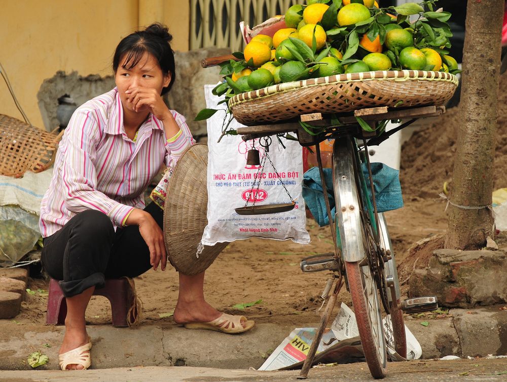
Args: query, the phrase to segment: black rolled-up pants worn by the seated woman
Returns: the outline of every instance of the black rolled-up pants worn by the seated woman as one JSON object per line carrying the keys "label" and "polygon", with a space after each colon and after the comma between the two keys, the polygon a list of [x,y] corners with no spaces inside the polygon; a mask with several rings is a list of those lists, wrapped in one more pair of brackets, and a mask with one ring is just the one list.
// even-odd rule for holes
{"label": "black rolled-up pants worn by the seated woman", "polygon": [[[155,203],[144,208],[163,227],[163,210]],[[91,286],[103,287],[106,278],[136,277],[148,271],[150,250],[138,226],[117,228],[107,215],[89,209],[70,219],[58,232],[44,238],[41,262],[60,280],[65,297]]]}

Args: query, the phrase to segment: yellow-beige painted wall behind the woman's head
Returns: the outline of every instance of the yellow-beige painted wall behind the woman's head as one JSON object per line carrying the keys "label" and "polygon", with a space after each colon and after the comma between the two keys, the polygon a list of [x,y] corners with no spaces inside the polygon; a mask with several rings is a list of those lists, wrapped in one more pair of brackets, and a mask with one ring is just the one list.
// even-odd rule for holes
{"label": "yellow-beige painted wall behind the woman's head", "polygon": [[[112,74],[121,37],[153,21],[169,26],[174,50],[187,51],[189,13],[183,0],[0,0],[0,62],[30,122],[44,128],[37,93],[45,79],[58,70]],[[0,114],[23,119],[1,77]]]}

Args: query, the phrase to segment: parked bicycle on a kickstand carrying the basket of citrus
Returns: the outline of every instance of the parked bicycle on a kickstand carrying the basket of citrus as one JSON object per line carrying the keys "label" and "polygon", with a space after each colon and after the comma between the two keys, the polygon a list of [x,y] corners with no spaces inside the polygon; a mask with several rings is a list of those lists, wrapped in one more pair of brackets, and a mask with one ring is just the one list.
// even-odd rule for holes
{"label": "parked bicycle on a kickstand carrying the basket of citrus", "polygon": [[[214,58],[214,63],[221,59]],[[203,62],[203,67],[208,66],[205,64],[206,62]],[[343,277],[346,278],[351,293],[359,337],[374,378],[383,378],[386,375],[387,345],[384,339],[384,326],[387,333],[392,336],[392,345],[389,344],[392,349],[389,354],[397,359],[406,359],[407,343],[403,311],[415,313],[438,308],[436,296],[401,302],[400,284],[387,224],[383,214],[378,213],[376,207],[368,147],[380,144],[419,117],[439,116],[443,112],[444,106],[407,109],[373,107],[355,110],[353,115],[350,115],[351,113],[338,117],[335,115],[333,119],[326,119],[320,113],[300,115],[301,121],[316,129],[317,133],[312,134],[307,128],[302,128],[300,121],[295,119],[237,129],[237,134],[241,135],[244,141],[295,132],[302,146],[315,146],[320,179],[324,179],[324,176],[319,143],[325,139],[334,139],[332,173],[337,211],[335,223],[331,217],[325,182],[322,182],[322,188],[331,222],[335,252],[333,256],[317,255],[303,259],[301,264],[304,272],[331,271],[333,277],[322,294],[322,298],[327,299],[328,303],[321,315],[319,327],[301,370],[301,378],[308,375],[320,338],[343,285]],[[366,132],[364,126],[356,119],[358,115],[363,118],[363,122],[370,124],[388,119],[411,119],[389,132],[373,129]],[[368,178],[361,171],[361,163],[365,163],[368,168]],[[367,188],[370,188],[371,199]],[[334,224],[336,230],[333,228]]]}

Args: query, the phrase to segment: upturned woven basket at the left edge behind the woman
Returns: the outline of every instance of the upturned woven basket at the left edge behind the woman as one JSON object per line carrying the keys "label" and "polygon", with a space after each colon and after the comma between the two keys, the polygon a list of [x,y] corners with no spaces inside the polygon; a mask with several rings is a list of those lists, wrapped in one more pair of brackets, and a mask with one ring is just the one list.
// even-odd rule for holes
{"label": "upturned woven basket at the left edge behind the woman", "polygon": [[62,134],[0,114],[0,175],[20,178],[27,171],[44,171],[53,163]]}

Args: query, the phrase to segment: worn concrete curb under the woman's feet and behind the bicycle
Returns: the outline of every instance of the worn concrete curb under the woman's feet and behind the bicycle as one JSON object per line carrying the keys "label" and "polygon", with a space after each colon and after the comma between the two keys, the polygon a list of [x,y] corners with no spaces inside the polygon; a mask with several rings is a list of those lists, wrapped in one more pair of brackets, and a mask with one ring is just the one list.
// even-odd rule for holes
{"label": "worn concrete curb under the woman's feet and behind the bicycle", "polygon": [[[422,358],[446,355],[485,357],[507,354],[507,311],[501,306],[453,309],[453,317],[426,320],[406,316],[406,324],[418,339]],[[193,366],[227,369],[258,368],[294,329],[277,324],[258,324],[252,330],[225,335],[210,330],[188,330],[177,326],[142,325],[137,328],[115,328],[90,325],[93,368],[134,366]],[[0,320],[0,331],[10,333],[0,341],[0,370],[31,369],[26,357],[41,351],[48,364],[38,369],[58,369],[58,349],[62,326],[16,324]],[[45,347],[48,344],[50,347]]]}

